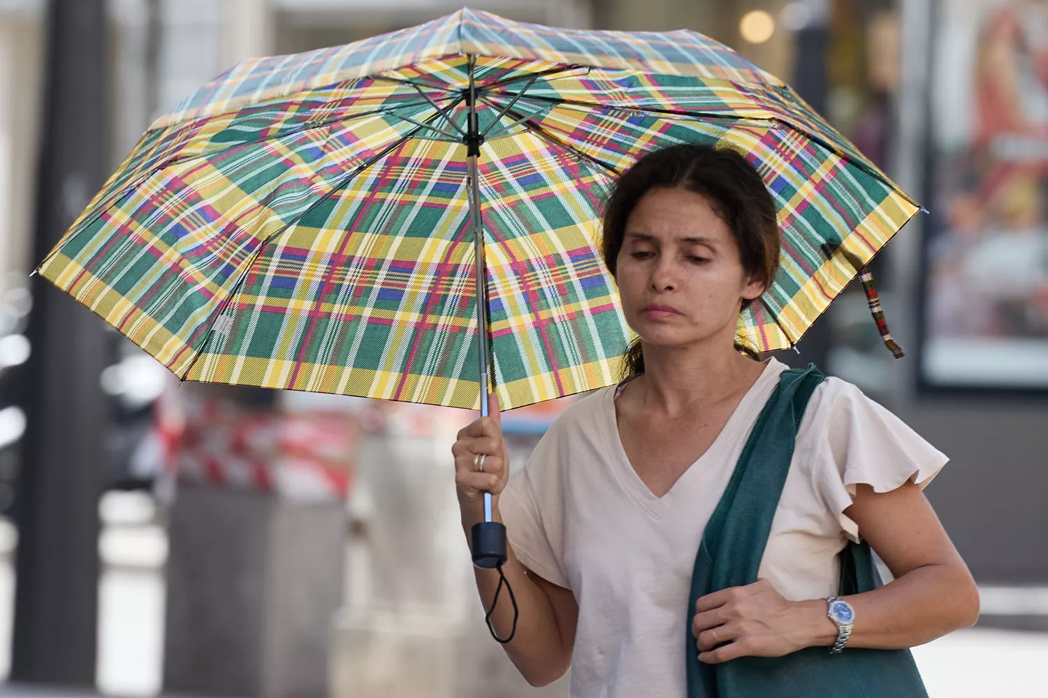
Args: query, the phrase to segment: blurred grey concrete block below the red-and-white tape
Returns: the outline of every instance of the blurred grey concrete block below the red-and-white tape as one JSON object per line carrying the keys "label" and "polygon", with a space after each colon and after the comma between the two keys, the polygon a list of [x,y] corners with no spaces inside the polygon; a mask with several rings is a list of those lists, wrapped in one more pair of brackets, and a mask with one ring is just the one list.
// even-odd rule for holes
{"label": "blurred grey concrete block below the red-and-white tape", "polygon": [[165,691],[327,696],[343,502],[183,482],[169,531]]}

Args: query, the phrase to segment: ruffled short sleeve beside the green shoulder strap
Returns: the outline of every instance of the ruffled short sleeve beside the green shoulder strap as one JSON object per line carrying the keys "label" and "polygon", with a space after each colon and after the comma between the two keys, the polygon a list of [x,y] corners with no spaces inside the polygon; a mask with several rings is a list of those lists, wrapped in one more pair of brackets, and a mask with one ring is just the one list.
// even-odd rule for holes
{"label": "ruffled short sleeve beside the green shoulder strap", "polygon": [[844,532],[858,541],[858,524],[844,514],[857,485],[891,492],[913,480],[924,488],[948,458],[851,383],[828,378],[821,391],[815,414],[805,415],[814,421],[815,486]]}

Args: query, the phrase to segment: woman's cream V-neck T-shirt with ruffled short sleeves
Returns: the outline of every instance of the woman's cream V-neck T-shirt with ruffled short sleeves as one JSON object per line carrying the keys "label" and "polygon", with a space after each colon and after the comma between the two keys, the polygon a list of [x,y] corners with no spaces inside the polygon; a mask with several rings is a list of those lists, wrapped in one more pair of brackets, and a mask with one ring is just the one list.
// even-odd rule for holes
{"label": "woman's cream V-neck T-shirt with ruffled short sleeves", "polygon": [[[568,407],[510,477],[499,509],[514,551],[578,604],[572,698],[685,695],[687,596],[702,531],[786,368],[767,362],[714,443],[661,498],[623,449],[615,386]],[[945,463],[854,385],[826,379],[801,422],[760,577],[793,601],[834,594],[836,555],[859,535],[843,514],[855,486],[888,492],[915,477],[923,487]]]}

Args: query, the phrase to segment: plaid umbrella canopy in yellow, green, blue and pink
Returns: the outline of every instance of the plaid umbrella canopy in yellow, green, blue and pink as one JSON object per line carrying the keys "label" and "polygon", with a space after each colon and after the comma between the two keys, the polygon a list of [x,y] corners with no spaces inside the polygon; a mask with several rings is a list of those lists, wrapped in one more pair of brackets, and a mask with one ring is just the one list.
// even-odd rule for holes
{"label": "plaid umbrella canopy in yellow, green, blue and pink", "polygon": [[779,275],[740,319],[759,351],[800,339],[919,210],[697,32],[463,9],[238,64],[150,128],[39,271],[194,381],[477,409],[486,324],[508,409],[617,379],[603,203],[680,142],[743,152],[778,206]]}

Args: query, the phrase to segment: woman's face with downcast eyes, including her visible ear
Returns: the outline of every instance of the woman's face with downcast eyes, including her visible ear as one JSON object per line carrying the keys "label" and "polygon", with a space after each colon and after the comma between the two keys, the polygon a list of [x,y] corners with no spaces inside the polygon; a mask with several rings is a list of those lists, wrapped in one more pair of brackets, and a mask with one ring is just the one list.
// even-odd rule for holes
{"label": "woman's face with downcast eyes, including her visible ear", "polygon": [[743,298],[764,292],[709,201],[681,188],[653,188],[637,202],[615,273],[626,320],[650,345],[718,335],[730,345]]}

